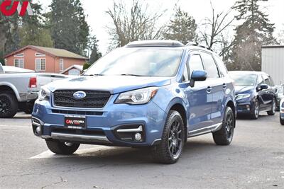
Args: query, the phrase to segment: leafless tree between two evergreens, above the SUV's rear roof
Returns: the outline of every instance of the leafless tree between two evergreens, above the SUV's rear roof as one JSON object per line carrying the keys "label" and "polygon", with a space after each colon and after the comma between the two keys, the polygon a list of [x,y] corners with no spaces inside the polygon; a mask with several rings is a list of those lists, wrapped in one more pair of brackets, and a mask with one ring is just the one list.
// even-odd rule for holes
{"label": "leafless tree between two evergreens, above the SUV's rear roof", "polygon": [[201,42],[205,42],[206,45],[210,48],[213,48],[214,45],[222,45],[224,49],[221,50],[220,55],[224,55],[229,44],[229,40],[224,38],[224,31],[233,23],[234,17],[229,19],[229,15],[232,11],[232,7],[229,8],[229,11],[222,11],[221,13],[216,13],[212,2],[210,2],[212,8],[212,18],[205,18],[204,23],[201,26],[204,26],[200,31]]}

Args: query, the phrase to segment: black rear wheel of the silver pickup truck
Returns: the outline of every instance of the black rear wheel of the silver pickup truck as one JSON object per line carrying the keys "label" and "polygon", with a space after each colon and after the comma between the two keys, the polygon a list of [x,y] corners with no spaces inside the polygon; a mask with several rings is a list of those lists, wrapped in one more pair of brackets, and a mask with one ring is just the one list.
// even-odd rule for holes
{"label": "black rear wheel of the silver pickup truck", "polygon": [[13,118],[18,111],[17,98],[12,93],[0,94],[0,118]]}

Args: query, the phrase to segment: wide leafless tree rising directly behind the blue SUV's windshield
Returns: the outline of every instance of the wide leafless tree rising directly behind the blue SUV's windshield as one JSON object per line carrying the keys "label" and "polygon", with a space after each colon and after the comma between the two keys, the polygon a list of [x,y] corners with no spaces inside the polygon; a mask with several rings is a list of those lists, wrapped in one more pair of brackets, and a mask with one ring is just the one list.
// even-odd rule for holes
{"label": "wide leafless tree rising directly behind the blue SUV's windshield", "polygon": [[111,48],[122,47],[134,40],[162,38],[165,26],[159,27],[158,21],[163,13],[148,13],[148,4],[143,5],[139,0],[133,0],[130,9],[124,2],[114,1],[113,8],[107,11],[113,22],[107,27],[112,39]]}

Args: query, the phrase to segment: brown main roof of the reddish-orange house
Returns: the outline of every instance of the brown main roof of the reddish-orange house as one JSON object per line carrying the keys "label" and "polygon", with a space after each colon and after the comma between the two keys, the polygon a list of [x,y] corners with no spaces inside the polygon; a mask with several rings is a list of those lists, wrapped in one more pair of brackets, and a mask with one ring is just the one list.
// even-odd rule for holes
{"label": "brown main roof of the reddish-orange house", "polygon": [[53,56],[53,57],[67,57],[67,58],[73,58],[73,59],[88,59],[87,57],[77,55],[77,54],[70,52],[70,51],[67,51],[67,50],[55,49],[55,48],[50,48],[50,47],[39,47],[39,46],[34,46],[34,45],[28,45],[28,46],[23,47],[19,50],[16,50],[16,51],[10,53],[9,55],[6,55],[5,58],[10,57],[12,55],[15,55],[18,52],[21,52],[21,51],[26,50],[26,49],[33,49],[33,50],[48,54],[48,55]]}

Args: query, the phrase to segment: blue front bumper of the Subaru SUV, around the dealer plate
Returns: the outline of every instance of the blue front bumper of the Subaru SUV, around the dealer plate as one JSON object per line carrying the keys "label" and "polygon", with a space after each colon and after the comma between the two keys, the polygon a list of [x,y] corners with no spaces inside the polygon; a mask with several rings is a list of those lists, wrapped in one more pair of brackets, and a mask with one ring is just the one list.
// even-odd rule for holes
{"label": "blue front bumper of the Subaru SUV, around the dealer plate", "polygon": [[[44,139],[85,144],[151,146],[158,143],[165,124],[165,112],[153,101],[145,105],[114,104],[116,97],[112,96],[104,108],[97,110],[53,108],[51,101],[35,101],[33,132]],[[86,128],[64,127],[65,115],[84,115]],[[37,127],[40,127],[38,133]],[[141,134],[140,141],[129,139],[137,132]]]}

